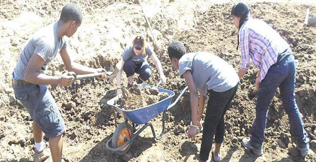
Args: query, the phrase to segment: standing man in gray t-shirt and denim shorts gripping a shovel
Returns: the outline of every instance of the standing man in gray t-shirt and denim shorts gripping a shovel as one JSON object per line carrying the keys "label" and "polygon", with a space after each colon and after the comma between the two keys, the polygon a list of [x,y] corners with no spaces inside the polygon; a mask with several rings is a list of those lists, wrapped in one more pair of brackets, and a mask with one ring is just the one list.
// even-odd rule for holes
{"label": "standing man in gray t-shirt and denim shorts gripping a shovel", "polygon": [[[48,25],[28,40],[21,51],[13,72],[13,89],[33,119],[35,141],[34,162],[47,159],[52,154],[53,162],[62,161],[62,133],[65,131],[64,120],[47,85],[60,84],[69,86],[72,75],[45,75],[44,70],[58,53],[68,71],[76,74],[91,74],[105,71],[103,68],[89,68],[71,61],[68,54],[68,37],[72,36],[82,22],[82,12],[75,3],[66,4],[60,19]],[[103,78],[99,77],[99,79]],[[43,141],[43,133],[49,138],[50,151]]]}

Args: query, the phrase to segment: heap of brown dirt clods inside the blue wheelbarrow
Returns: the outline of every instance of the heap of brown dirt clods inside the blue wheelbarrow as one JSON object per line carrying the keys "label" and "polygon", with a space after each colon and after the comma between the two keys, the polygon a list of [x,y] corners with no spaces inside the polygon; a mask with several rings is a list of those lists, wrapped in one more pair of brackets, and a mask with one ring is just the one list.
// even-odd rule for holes
{"label": "heap of brown dirt clods inside the blue wheelbarrow", "polygon": [[117,106],[124,110],[133,110],[155,104],[166,99],[169,94],[159,92],[157,87],[139,86],[133,84],[129,89],[122,89],[122,97],[118,99]]}

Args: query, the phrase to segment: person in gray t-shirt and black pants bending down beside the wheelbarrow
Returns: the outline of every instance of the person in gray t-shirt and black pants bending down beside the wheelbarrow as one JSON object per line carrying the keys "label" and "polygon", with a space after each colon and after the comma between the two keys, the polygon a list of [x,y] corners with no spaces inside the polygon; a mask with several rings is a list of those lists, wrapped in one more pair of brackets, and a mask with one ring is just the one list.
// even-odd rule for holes
{"label": "person in gray t-shirt and black pants bending down beside the wheelbarrow", "polygon": [[[205,96],[209,100],[205,113],[200,161],[207,161],[215,134],[214,160],[220,161],[219,150],[224,139],[224,115],[238,89],[239,77],[223,59],[208,52],[185,53],[182,42],[172,41],[168,55],[173,67],[184,77],[190,91],[191,125],[188,136],[194,140],[204,110]],[[198,100],[198,92],[200,99]],[[215,131],[216,130],[216,131]]]}

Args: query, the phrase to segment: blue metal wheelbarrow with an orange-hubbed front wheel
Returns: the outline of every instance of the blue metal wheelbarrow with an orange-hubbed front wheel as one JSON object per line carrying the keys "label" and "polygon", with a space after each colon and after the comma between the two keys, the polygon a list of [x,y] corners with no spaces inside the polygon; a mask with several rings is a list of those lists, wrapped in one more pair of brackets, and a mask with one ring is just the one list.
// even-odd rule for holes
{"label": "blue metal wheelbarrow with an orange-hubbed front wheel", "polygon": [[[140,107],[134,110],[124,110],[117,106],[115,106],[116,101],[119,99],[119,96],[116,96],[107,101],[107,104],[112,106],[116,111],[118,111],[125,118],[125,122],[117,125],[116,122],[116,113],[114,112],[114,121],[117,126],[112,137],[106,142],[106,148],[116,154],[123,155],[128,152],[131,148],[132,141],[148,126],[150,126],[151,131],[154,135],[155,139],[161,139],[161,137],[165,134],[165,115],[166,111],[168,111],[171,107],[173,107],[181,98],[183,93],[187,90],[187,86],[182,90],[179,94],[178,98],[170,105],[171,100],[174,96],[174,92],[159,88],[161,82],[157,84],[157,88],[159,92],[166,92],[170,96],[166,99],[163,99],[157,103],[152,105],[148,105],[145,107]],[[149,84],[139,84],[139,86],[150,86]],[[149,123],[151,119],[162,114],[162,131],[159,136],[156,136],[154,127],[152,123]],[[129,124],[128,121],[132,123]],[[143,125],[144,124],[144,125]],[[143,125],[142,128],[140,128]],[[134,133],[135,132],[135,133]],[[110,144],[111,143],[111,144]]]}

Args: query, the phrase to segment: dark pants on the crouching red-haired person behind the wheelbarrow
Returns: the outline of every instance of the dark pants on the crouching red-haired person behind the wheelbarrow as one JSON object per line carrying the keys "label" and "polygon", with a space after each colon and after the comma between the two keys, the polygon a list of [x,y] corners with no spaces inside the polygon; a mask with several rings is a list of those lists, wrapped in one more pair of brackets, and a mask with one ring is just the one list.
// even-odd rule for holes
{"label": "dark pants on the crouching red-haired person behind the wheelbarrow", "polygon": [[128,59],[124,63],[123,71],[127,77],[133,76],[134,73],[137,73],[143,81],[147,81],[151,75],[151,69],[147,61],[134,63],[132,60]]}

